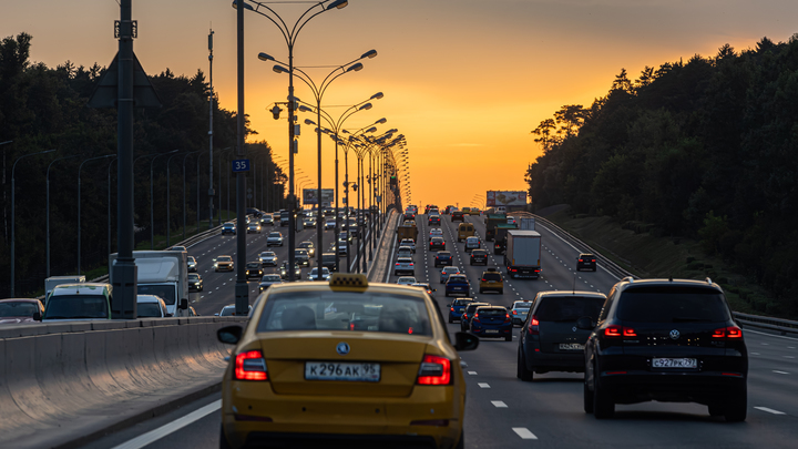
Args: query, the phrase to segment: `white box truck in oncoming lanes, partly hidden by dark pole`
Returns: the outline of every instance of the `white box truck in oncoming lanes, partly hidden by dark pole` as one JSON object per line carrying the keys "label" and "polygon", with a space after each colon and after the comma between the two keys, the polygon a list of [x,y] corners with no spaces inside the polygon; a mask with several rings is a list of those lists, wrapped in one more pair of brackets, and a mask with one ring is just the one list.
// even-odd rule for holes
{"label": "white box truck in oncoming lanes, partly hidden by dark pole", "polygon": [[[117,254],[111,255],[111,265]],[[188,264],[184,251],[134,251],[139,271],[139,295],[157,295],[172,316],[187,316]],[[110,271],[113,274],[113,269]],[[113,278],[111,278],[113,284]]]}

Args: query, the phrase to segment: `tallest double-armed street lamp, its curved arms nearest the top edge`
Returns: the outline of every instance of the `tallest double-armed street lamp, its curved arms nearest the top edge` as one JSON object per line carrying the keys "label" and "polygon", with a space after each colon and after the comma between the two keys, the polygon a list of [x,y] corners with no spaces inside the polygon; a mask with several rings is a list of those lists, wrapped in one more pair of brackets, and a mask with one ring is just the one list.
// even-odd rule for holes
{"label": "tallest double-armed street lamp, its curved arms nearest the top edge", "polygon": [[[242,0],[235,0],[233,2],[233,6],[237,7],[238,1]],[[331,9],[345,8],[349,3],[349,1],[323,0],[319,2],[315,2],[310,8],[303,12],[303,14],[299,17],[299,19],[297,19],[297,21],[294,23],[294,27],[291,28],[289,28],[288,24],[283,20],[283,18],[280,18],[280,16],[266,3],[257,1],[252,1],[252,3],[257,4],[257,7],[253,8],[252,6],[242,1],[242,6],[245,9],[256,12],[268,19],[272,23],[274,23],[279,29],[280,33],[283,33],[283,38],[288,45],[288,187],[290,190],[288,195],[290,196],[293,204],[296,204],[294,192],[294,151],[296,145],[294,129],[294,108],[296,101],[296,98],[294,96],[294,45],[296,44],[299,32],[303,30],[303,28],[305,28],[305,25],[310,21],[310,19]],[[260,9],[265,10],[266,12],[262,12]],[[316,9],[318,10],[314,11]],[[294,249],[296,247],[296,224],[294,223],[293,213],[288,214],[288,227],[290,228],[290,231],[288,232],[288,266],[293,267],[296,262],[294,255]],[[288,269],[288,280],[295,280],[294,277],[294,269]]]}

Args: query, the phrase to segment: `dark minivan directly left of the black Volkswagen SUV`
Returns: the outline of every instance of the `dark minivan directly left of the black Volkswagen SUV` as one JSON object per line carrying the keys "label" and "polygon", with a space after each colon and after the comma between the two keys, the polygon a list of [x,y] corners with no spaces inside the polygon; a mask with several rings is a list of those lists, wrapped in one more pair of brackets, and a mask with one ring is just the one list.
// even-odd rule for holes
{"label": "dark minivan directly left of the black Volkswagen SUV", "polygon": [[584,371],[584,345],[590,329],[576,323],[595,323],[606,296],[595,292],[541,292],[521,326],[518,378],[530,381],[534,373]]}

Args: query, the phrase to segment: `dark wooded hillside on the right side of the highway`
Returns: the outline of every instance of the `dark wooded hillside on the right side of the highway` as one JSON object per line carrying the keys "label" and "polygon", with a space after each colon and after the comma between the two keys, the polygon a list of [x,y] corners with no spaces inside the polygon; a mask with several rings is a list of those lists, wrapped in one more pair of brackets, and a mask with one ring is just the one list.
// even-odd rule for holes
{"label": "dark wooded hillside on the right side of the highway", "polygon": [[798,34],[712,58],[622,70],[589,108],[532,131],[536,207],[642,222],[697,238],[798,315]]}

